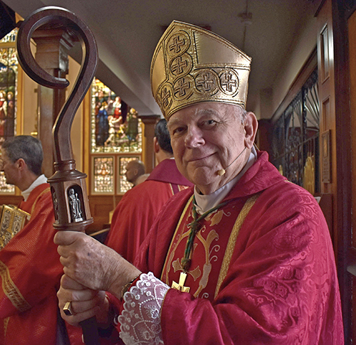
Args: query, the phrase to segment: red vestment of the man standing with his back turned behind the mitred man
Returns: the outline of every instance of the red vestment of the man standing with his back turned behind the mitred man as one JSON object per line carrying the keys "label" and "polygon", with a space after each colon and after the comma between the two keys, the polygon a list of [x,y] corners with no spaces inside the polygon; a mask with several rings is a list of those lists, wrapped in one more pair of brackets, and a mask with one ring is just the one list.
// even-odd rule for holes
{"label": "red vestment of the man standing with his back turned behind the mitred man", "polygon": [[133,262],[152,223],[175,193],[192,186],[177,169],[174,159],[164,159],[147,180],[127,191],[117,204],[105,244]]}

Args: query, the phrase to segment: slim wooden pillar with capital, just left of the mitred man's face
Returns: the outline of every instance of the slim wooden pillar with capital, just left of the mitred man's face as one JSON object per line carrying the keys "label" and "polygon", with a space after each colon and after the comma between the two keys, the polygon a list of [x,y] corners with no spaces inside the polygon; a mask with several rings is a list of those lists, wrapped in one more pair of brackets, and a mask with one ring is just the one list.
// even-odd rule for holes
{"label": "slim wooden pillar with capital, just left of the mitred man's face", "polygon": [[160,119],[159,115],[142,115],[140,116],[143,124],[145,124],[144,132],[144,162],[146,167],[146,173],[150,174],[153,168],[155,168],[155,152],[153,150],[153,138],[155,137],[155,125]]}

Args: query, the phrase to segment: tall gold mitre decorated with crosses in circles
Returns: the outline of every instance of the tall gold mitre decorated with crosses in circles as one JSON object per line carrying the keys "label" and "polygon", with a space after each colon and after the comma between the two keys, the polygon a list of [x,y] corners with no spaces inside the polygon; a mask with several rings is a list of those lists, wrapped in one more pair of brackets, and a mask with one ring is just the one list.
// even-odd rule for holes
{"label": "tall gold mitre decorated with crosses in circles", "polygon": [[251,58],[211,31],[172,21],[151,63],[153,97],[169,117],[198,102],[246,106]]}

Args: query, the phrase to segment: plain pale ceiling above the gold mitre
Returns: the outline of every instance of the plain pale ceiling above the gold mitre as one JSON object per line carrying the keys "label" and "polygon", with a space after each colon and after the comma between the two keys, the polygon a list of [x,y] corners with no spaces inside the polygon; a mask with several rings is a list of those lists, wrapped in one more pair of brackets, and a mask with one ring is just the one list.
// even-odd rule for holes
{"label": "plain pale ceiling above the gold mitre", "polygon": [[[318,0],[3,0],[26,17],[43,6],[73,11],[98,43],[97,76],[140,115],[160,114],[150,89],[150,61],[172,20],[210,26],[252,57],[248,100],[271,87]],[[244,26],[239,14],[252,14]],[[244,43],[244,31],[246,38]],[[251,102],[251,101],[250,101]],[[252,109],[251,109],[252,108]],[[253,104],[250,104],[253,110]]]}

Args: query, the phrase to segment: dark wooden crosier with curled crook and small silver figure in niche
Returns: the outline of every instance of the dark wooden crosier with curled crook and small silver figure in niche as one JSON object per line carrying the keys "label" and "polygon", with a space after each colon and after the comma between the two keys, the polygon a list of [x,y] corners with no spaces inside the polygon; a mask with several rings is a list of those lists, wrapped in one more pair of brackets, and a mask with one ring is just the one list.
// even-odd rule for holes
{"label": "dark wooden crosier with curled crook and small silver figure in niche", "polygon": [[[54,89],[63,89],[68,80],[57,78],[43,70],[31,53],[33,31],[44,24],[58,24],[63,30],[75,32],[82,43],[83,60],[80,72],[68,100],[53,126],[55,174],[48,179],[51,185],[56,230],[84,231],[93,223],[90,216],[88,194],[85,186],[86,174],[75,169],[70,129],[75,112],[78,110],[85,93],[88,91],[98,65],[98,48],[93,33],[75,14],[60,7],[48,6],[30,14],[19,28],[16,41],[19,63],[25,73],[36,83]],[[99,344],[98,328],[95,317],[80,323],[83,329],[85,345]]]}

